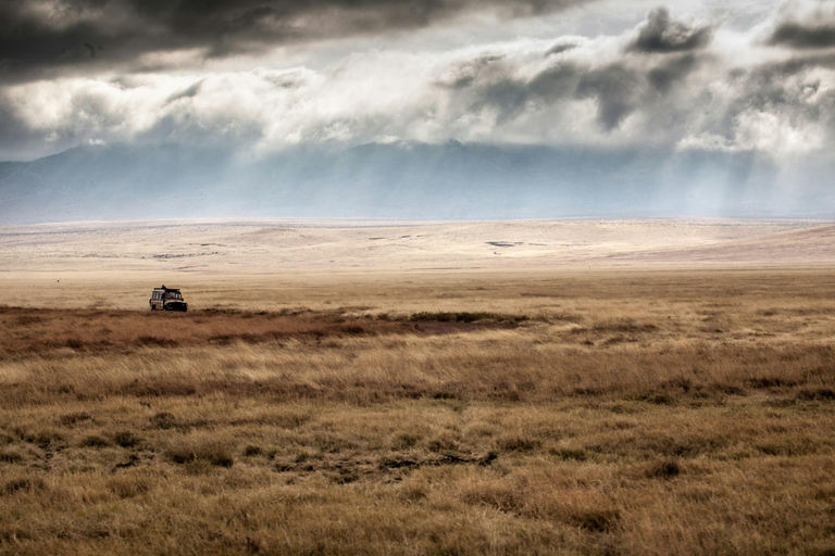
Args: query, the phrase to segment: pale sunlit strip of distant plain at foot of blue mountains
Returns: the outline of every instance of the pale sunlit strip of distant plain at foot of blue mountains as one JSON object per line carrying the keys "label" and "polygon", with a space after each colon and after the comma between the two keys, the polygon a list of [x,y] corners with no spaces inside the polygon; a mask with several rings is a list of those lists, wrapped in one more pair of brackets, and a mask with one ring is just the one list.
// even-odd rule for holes
{"label": "pale sunlit strip of distant plain at foot of blue mountains", "polygon": [[830,266],[835,223],[656,218],[495,223],[160,220],[0,226],[0,274],[285,275]]}

